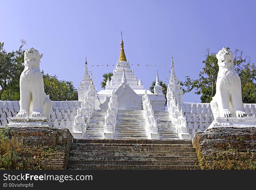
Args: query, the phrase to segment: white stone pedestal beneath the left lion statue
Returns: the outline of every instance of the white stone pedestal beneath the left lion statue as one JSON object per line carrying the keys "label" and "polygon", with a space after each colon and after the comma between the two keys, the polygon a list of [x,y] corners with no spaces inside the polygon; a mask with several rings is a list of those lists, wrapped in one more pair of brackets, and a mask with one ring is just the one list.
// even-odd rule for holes
{"label": "white stone pedestal beneath the left lion statue", "polygon": [[8,127],[14,126],[45,126],[51,127],[48,117],[9,117]]}

